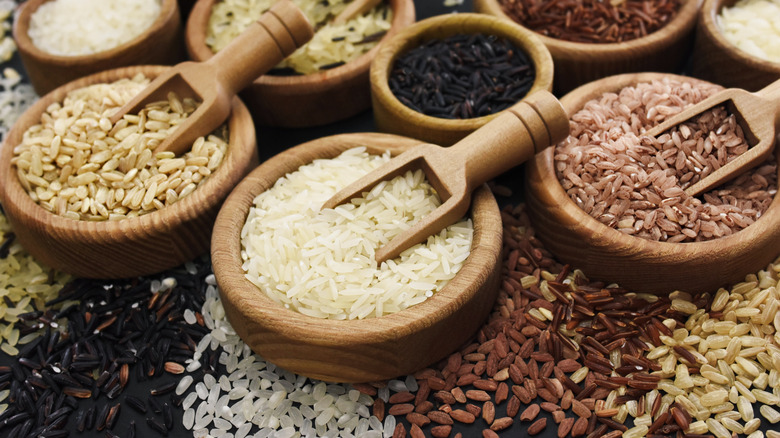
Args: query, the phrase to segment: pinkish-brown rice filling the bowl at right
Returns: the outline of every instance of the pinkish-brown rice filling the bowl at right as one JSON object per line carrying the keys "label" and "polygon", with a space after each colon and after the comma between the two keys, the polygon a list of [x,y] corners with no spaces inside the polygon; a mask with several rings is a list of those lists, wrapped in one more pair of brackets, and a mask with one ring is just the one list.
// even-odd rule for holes
{"label": "pinkish-brown rice filling the bowl at right", "polygon": [[600,222],[650,240],[708,240],[749,226],[777,193],[772,159],[702,199],[683,191],[748,149],[733,116],[714,109],[657,139],[643,135],[718,90],[665,78],[586,103],[555,150],[562,187]]}

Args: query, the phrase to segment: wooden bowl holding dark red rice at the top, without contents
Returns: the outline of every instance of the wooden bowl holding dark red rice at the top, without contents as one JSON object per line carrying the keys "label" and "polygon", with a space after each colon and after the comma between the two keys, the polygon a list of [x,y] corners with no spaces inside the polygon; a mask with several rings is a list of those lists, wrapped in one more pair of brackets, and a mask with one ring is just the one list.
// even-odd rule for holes
{"label": "wooden bowl holding dark red rice at the top, without contents", "polygon": [[[622,43],[575,43],[537,34],[555,61],[555,94],[563,95],[582,84],[619,73],[679,71],[690,54],[698,6],[699,0],[683,0],[679,13],[666,26]],[[474,9],[512,20],[499,0],[474,0]]]}

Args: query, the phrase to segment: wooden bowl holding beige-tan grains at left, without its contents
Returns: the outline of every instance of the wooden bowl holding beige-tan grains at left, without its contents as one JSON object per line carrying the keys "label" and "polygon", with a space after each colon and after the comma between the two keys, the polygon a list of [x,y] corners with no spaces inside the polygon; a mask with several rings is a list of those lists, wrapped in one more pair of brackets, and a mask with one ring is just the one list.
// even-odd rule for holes
{"label": "wooden bowl holding beige-tan grains at left, without its contents", "polygon": [[222,164],[189,196],[140,217],[90,222],[50,213],[30,198],[10,164],[24,131],[68,91],[138,73],[154,77],[166,68],[123,67],[70,82],[43,96],[11,128],[0,150],[0,203],[19,242],[44,264],[80,277],[123,278],[160,272],[207,252],[222,201],[259,162],[252,117],[238,98],[233,100],[230,147]]}

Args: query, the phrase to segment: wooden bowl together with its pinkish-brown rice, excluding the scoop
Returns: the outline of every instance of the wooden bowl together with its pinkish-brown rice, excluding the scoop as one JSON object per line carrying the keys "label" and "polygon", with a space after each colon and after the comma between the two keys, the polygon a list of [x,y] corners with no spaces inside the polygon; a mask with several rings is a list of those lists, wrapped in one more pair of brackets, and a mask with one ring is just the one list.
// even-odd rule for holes
{"label": "wooden bowl together with its pinkish-brown rice, excluding the scoop", "polygon": [[561,100],[571,134],[529,162],[538,237],[594,279],[637,292],[702,292],[740,281],[780,248],[777,156],[698,197],[684,188],[747,150],[724,107],[667,133],[642,134],[721,87],[637,73],[583,85]]}

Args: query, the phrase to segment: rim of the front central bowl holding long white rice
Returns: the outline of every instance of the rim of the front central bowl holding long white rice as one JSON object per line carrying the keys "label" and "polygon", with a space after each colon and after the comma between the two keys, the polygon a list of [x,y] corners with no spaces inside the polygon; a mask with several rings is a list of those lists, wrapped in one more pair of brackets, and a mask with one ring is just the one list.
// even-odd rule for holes
{"label": "rim of the front central bowl holding long white rice", "polygon": [[[361,137],[357,137],[361,136]],[[370,136],[375,143],[356,142],[355,138]],[[333,142],[335,144],[329,143]],[[373,142],[373,140],[372,140]],[[333,158],[339,153],[355,146],[365,146],[370,153],[382,153],[390,150],[399,153],[424,142],[409,137],[386,133],[349,133],[336,134],[311,140],[287,149],[268,159],[255,168],[233,190],[225,200],[214,225],[212,235],[211,258],[220,294],[231,303],[241,296],[258,300],[259,305],[251,315],[244,316],[263,325],[269,331],[280,332],[283,328],[294,326],[294,333],[285,332],[284,336],[317,346],[342,346],[371,344],[378,340],[399,339],[410,332],[430,327],[446,320],[466,302],[478,295],[481,286],[488,280],[483,270],[499,262],[501,253],[501,230],[486,229],[490,225],[490,216],[500,216],[498,204],[487,186],[475,190],[472,206],[480,207],[474,221],[474,240],[472,250],[466,262],[456,276],[442,290],[433,294],[422,303],[404,310],[383,315],[353,320],[322,319],[304,315],[285,308],[273,301],[259,287],[251,283],[242,268],[241,229],[246,221],[254,198],[260,192],[273,186],[286,173],[309,164],[311,159]],[[323,154],[325,152],[326,154]],[[291,169],[291,170],[290,170]],[[253,189],[259,190],[255,192]],[[252,193],[249,191],[252,190]],[[231,214],[238,212],[241,220],[233,219]],[[478,220],[479,218],[479,220]],[[497,222],[500,228],[500,220]],[[492,264],[491,264],[492,263]],[[437,311],[437,312],[434,312]],[[239,312],[246,312],[240,309]],[[383,324],[376,324],[381,320]],[[390,325],[390,327],[388,327]],[[415,327],[413,327],[415,326]],[[334,336],[338,334],[338,336]],[[262,351],[260,351],[262,354]]]}

